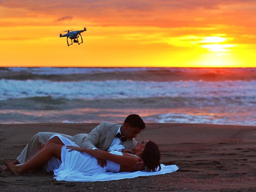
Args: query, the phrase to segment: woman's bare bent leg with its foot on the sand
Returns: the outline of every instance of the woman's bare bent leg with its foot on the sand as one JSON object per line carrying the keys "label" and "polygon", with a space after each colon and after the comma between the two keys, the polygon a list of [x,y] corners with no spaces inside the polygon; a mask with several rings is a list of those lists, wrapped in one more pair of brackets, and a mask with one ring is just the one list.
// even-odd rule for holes
{"label": "woman's bare bent leg with its foot on the sand", "polygon": [[28,170],[37,168],[38,166],[45,164],[52,158],[52,156],[61,160],[61,149],[63,144],[50,143],[38,154],[28,160],[22,165],[14,165],[6,163],[6,166],[16,175],[20,175]]}

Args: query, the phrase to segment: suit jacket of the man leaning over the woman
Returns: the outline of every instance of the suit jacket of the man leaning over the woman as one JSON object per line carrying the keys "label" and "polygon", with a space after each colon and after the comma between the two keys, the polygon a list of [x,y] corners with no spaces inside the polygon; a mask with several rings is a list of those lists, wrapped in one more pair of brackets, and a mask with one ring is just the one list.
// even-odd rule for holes
{"label": "suit jacket of the man leaning over the woman", "polygon": [[[92,149],[94,147],[99,150],[107,150],[110,144],[112,143],[116,132],[121,124],[110,123],[110,122],[101,122],[96,128],[94,128],[88,135],[87,134],[78,134],[72,137],[78,146]],[[81,142],[81,143],[80,143]],[[132,150],[136,146],[137,142],[135,139],[126,140],[122,145],[126,149]]]}

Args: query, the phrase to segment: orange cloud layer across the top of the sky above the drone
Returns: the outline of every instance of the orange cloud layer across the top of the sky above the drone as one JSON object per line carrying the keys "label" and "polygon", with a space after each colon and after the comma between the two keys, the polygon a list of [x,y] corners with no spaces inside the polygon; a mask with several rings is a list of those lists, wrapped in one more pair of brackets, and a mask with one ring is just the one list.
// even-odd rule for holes
{"label": "orange cloud layer across the top of the sky above the drone", "polygon": [[13,9],[2,18],[20,9],[26,12],[17,18],[58,18],[49,25],[76,18],[94,26],[255,26],[253,7],[255,0],[0,0],[0,8]]}

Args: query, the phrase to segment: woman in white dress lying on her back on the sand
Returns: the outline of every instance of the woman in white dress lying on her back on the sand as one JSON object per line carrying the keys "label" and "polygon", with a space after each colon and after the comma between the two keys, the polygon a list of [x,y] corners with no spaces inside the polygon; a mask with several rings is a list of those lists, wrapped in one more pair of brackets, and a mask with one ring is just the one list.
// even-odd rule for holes
{"label": "woman in white dress lying on her back on the sand", "polygon": [[[61,135],[53,135],[42,150],[24,164],[6,166],[16,175],[46,164],[52,167],[57,180],[66,177],[79,177],[83,175],[99,174],[102,172],[133,172],[134,164],[139,158],[144,160],[148,170],[156,170],[160,167],[160,150],[152,141],[143,141],[133,148],[134,154],[119,151],[101,151],[80,148],[74,142]],[[53,158],[60,160],[60,164],[53,164]],[[107,160],[107,166],[102,168],[97,159]],[[54,165],[54,166],[53,166]],[[49,169],[48,169],[49,170]]]}

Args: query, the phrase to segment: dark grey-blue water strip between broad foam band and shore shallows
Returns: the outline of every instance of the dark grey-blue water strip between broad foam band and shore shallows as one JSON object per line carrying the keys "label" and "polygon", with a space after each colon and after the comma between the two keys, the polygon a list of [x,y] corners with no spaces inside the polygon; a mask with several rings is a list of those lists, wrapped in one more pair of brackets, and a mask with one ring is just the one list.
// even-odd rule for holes
{"label": "dark grey-blue water strip between broad foam band and shore shallows", "polygon": [[68,100],[65,98],[52,98],[51,96],[16,98],[0,100],[0,109],[67,109],[67,108],[179,108],[206,106],[255,106],[255,97],[150,97],[150,98],[122,98],[122,99],[95,99]]}

